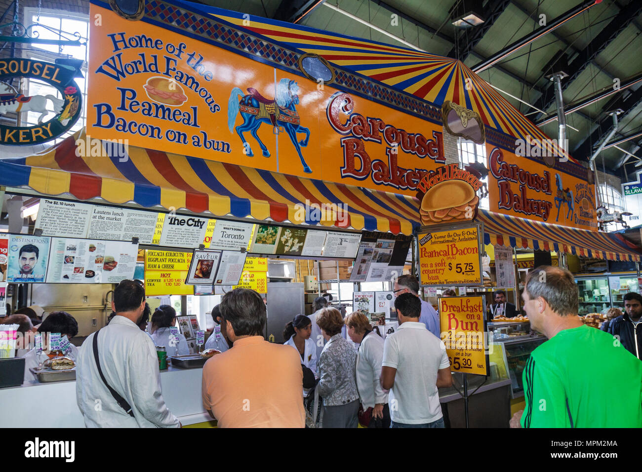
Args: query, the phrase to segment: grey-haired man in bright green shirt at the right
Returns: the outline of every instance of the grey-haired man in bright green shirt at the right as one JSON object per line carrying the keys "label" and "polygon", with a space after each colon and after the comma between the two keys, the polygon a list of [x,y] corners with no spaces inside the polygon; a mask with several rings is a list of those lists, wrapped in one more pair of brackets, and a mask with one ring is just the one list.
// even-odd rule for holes
{"label": "grey-haired man in bright green shirt at the right", "polygon": [[523,428],[642,427],[642,361],[612,335],[582,324],[573,275],[538,267],[522,295],[532,329],[548,341],[523,372]]}

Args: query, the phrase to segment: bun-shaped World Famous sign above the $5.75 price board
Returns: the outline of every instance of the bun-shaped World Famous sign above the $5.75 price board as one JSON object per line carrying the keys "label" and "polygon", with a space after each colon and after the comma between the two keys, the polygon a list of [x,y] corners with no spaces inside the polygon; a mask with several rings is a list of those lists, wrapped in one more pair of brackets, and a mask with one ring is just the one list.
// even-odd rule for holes
{"label": "bun-shaped World Famous sign above the $5.75 price board", "polygon": [[480,202],[477,192],[485,191],[481,178],[474,166],[460,169],[458,164],[448,164],[424,175],[417,184],[422,225],[473,220]]}

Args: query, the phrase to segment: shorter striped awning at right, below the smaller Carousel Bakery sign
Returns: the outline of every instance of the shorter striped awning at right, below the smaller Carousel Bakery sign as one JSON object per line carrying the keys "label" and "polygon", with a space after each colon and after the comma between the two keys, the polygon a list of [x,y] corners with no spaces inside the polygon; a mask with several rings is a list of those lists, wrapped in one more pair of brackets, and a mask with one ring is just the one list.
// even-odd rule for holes
{"label": "shorter striped awning at right, below the smaller Carousel Bakery sign", "polygon": [[515,218],[480,209],[484,243],[547,251],[569,252],[586,258],[639,261],[642,253],[616,233],[588,231]]}

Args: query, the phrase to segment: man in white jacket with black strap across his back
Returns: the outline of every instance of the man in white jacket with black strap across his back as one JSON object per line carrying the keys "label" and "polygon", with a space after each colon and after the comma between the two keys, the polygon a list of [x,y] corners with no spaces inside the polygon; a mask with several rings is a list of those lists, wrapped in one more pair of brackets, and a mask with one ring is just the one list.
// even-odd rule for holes
{"label": "man in white jacket with black strap across his back", "polygon": [[138,327],[144,308],[143,287],[122,281],[112,301],[116,316],[80,347],[76,402],[88,428],[180,427],[160,392],[154,343]]}

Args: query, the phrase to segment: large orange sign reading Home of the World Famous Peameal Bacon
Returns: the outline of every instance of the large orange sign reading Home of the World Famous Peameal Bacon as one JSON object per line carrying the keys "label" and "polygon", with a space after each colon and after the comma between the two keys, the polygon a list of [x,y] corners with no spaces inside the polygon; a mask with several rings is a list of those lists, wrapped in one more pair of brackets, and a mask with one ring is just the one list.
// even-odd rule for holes
{"label": "large orange sign reading Home of the World Famous Peameal Bacon", "polygon": [[91,5],[87,134],[415,195],[442,126]]}

